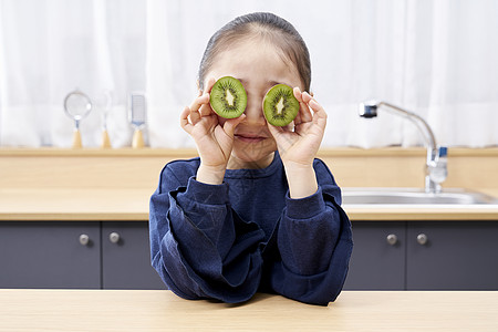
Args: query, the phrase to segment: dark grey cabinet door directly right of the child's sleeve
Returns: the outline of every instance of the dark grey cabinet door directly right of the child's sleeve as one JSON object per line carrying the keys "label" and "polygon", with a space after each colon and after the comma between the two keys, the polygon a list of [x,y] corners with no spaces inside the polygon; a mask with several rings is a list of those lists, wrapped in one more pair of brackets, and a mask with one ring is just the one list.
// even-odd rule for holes
{"label": "dark grey cabinet door directly right of the child's sleeve", "polygon": [[[405,236],[403,221],[353,221],[353,255],[344,289],[405,289]],[[390,237],[391,243],[387,240]],[[393,237],[396,237],[394,241]]]}

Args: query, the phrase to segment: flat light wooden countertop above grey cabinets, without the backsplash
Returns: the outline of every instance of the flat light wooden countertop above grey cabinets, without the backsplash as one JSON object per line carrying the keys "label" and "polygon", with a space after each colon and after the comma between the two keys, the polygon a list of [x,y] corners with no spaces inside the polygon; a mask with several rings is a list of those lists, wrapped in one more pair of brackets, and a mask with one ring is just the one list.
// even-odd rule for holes
{"label": "flat light wooden countertop above grey cabinets, without the backsplash", "polygon": [[[0,188],[0,220],[148,220],[154,190]],[[498,190],[485,194],[498,197]],[[351,220],[498,220],[498,205],[344,206]]]}

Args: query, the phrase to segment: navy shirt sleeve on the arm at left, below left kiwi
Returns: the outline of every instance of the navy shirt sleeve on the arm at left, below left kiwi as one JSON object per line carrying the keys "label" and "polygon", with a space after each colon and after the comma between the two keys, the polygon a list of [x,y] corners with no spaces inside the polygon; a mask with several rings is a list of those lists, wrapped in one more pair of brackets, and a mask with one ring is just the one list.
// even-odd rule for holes
{"label": "navy shirt sleeve on the arm at left, below left kiwi", "polygon": [[149,224],[153,266],[178,295],[241,302],[258,290],[264,235],[234,212],[228,185],[190,176],[183,186],[166,167],[151,198]]}

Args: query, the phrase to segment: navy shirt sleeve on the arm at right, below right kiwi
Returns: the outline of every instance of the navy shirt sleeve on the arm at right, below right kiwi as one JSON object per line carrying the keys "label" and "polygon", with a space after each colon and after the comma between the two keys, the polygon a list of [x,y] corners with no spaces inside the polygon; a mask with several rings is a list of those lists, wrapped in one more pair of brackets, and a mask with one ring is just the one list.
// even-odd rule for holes
{"label": "navy shirt sleeve on the arm at right, below right kiwi", "polygon": [[288,298],[325,305],[342,290],[352,252],[351,224],[340,207],[332,175],[315,163],[319,190],[287,197],[277,235],[280,260],[271,266],[271,288]]}

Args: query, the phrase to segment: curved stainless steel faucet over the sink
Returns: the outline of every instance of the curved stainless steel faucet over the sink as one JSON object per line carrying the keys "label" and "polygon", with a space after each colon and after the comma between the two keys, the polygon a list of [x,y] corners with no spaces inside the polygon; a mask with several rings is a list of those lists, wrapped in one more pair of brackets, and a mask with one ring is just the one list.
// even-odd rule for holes
{"label": "curved stainless steel faucet over the sink", "polygon": [[381,106],[385,106],[386,111],[393,114],[401,115],[412,121],[417,128],[422,132],[426,147],[427,147],[427,160],[425,167],[425,191],[437,194],[440,193],[440,184],[448,176],[447,170],[447,148],[438,146],[434,132],[430,129],[427,122],[415,113],[405,111],[401,107],[392,105],[386,102],[370,101],[360,104],[359,114],[365,118],[372,118],[377,116],[377,110]]}

